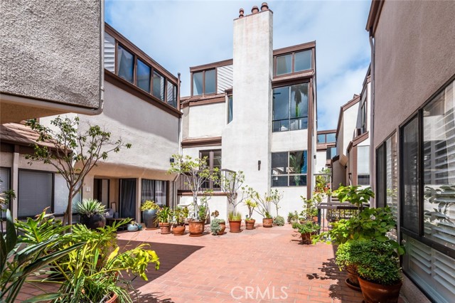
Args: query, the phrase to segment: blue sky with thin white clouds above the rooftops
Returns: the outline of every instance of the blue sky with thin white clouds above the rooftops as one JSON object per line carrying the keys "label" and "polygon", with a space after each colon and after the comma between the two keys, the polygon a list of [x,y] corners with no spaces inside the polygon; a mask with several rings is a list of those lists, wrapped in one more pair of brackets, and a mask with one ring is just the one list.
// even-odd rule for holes
{"label": "blue sky with thin white clouds above the rooftops", "polygon": [[[267,1],[273,48],[316,41],[318,129],[336,129],[341,105],[360,94],[370,64],[365,24],[370,1]],[[190,95],[190,67],[232,58],[232,21],[262,1],[105,0],[105,21],[166,70],[181,73]]]}

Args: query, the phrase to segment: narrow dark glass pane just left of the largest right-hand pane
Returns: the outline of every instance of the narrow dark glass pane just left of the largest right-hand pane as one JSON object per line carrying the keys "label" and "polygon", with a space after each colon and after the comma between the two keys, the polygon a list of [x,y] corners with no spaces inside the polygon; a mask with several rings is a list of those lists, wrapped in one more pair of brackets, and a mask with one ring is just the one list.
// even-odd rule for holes
{"label": "narrow dark glass pane just left of the largest right-hand pane", "polygon": [[402,167],[403,167],[403,227],[419,233],[419,124],[414,117],[402,129]]}

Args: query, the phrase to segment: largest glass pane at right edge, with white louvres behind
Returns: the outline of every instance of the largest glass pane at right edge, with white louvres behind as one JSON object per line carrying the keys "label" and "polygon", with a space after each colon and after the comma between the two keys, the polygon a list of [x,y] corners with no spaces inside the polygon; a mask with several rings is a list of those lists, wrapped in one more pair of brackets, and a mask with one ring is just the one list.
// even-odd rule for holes
{"label": "largest glass pane at right edge, with white louvres behind", "polygon": [[424,236],[455,249],[453,83],[424,107]]}

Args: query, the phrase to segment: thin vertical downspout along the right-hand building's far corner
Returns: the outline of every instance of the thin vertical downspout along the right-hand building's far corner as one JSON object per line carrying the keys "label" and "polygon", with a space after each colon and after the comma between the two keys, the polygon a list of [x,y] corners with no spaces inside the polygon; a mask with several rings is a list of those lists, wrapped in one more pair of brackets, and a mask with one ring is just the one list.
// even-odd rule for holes
{"label": "thin vertical downspout along the right-hand building's far corner", "polygon": [[[370,49],[371,49],[371,68],[370,68],[370,77],[371,77],[371,92],[370,92],[370,168],[371,168],[371,178],[370,180],[374,180],[371,182],[371,188],[373,192],[375,192],[375,181],[376,181],[376,169],[375,169],[375,40],[373,36],[373,28],[370,28]],[[376,206],[376,201],[371,198],[370,204]]]}

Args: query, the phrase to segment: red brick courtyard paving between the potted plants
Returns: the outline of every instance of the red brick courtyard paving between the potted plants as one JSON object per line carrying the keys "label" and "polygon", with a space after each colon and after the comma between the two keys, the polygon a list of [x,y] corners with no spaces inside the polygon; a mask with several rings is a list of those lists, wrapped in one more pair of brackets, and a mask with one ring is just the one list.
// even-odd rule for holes
{"label": "red brick courtyard paving between the potted plants", "polygon": [[[208,225],[206,225],[208,230]],[[188,228],[187,228],[188,230]],[[229,231],[229,229],[227,229]],[[119,233],[121,245],[150,243],[161,268],[134,280],[141,303],[362,302],[334,263],[332,245],[301,245],[290,225],[199,238],[159,230]],[[23,287],[21,299],[39,291]]]}

